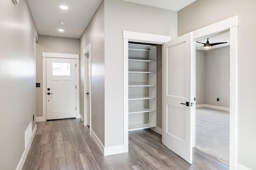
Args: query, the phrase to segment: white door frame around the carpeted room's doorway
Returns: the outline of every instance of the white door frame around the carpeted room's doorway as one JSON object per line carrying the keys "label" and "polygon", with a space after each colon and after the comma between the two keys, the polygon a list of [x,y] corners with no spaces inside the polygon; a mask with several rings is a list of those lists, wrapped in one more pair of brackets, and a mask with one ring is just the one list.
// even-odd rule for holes
{"label": "white door frame around the carpeted room's doorway", "polygon": [[[232,170],[236,170],[237,165],[237,27],[238,16],[234,16],[193,31],[195,41],[210,34],[230,30],[230,169]],[[196,88],[194,94],[195,90]],[[195,116],[195,111],[193,114]],[[195,122],[193,124],[195,125]]]}

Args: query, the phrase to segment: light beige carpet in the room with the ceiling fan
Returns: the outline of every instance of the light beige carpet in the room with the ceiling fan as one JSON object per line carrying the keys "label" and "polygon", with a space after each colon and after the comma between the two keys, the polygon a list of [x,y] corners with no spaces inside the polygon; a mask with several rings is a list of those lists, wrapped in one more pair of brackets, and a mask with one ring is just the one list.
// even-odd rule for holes
{"label": "light beige carpet in the room with the ceiling fan", "polygon": [[229,163],[229,112],[196,109],[196,149]]}

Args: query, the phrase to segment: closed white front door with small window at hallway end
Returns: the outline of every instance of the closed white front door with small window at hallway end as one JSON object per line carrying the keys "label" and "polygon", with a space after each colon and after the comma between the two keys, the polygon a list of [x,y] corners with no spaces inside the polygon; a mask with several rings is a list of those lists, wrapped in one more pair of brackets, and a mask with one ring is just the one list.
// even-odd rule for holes
{"label": "closed white front door with small window at hallway end", "polygon": [[46,119],[76,117],[76,59],[46,58]]}

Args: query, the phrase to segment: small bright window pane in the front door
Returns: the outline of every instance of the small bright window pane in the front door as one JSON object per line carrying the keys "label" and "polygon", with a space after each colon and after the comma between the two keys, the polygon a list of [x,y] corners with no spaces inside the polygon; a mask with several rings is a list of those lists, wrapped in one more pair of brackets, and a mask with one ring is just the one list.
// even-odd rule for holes
{"label": "small bright window pane in the front door", "polygon": [[70,63],[52,63],[53,76],[70,76]]}

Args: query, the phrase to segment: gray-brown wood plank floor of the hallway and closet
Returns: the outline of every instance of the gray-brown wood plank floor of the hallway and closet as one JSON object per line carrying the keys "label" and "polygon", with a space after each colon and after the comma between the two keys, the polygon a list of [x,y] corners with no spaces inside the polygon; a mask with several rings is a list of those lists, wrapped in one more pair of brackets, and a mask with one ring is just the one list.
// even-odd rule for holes
{"label": "gray-brown wood plank floor of the hallway and closet", "polygon": [[37,123],[22,170],[228,170],[197,150],[188,164],[150,129],[129,132],[129,152],[103,156],[80,119]]}

